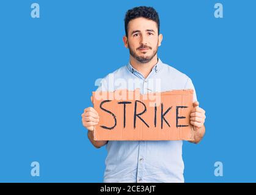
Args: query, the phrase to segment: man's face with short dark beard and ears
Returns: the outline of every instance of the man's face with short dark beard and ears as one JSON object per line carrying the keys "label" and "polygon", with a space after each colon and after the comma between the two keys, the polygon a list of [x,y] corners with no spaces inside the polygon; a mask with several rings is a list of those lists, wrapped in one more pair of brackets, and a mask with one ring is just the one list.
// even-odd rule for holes
{"label": "man's face with short dark beard and ears", "polygon": [[136,18],[128,23],[128,38],[123,37],[126,48],[134,59],[141,63],[150,62],[155,57],[162,35],[158,35],[155,21]]}

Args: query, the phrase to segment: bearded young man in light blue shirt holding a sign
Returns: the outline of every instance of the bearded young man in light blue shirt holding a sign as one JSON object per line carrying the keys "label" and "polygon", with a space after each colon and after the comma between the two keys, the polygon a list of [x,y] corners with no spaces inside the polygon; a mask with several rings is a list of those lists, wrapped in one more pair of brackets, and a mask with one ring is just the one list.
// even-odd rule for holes
{"label": "bearded young man in light blue shirt holding a sign", "polygon": [[[110,77],[114,80],[137,79],[141,93],[155,91],[145,84],[157,79],[161,80],[161,91],[194,90],[188,76],[158,58],[157,51],[163,35],[159,34],[159,17],[155,9],[135,7],[128,10],[125,33],[123,43],[130,51],[130,62],[108,74],[104,80],[108,81]],[[110,90],[108,82],[101,82],[98,90]],[[108,150],[104,182],[184,182],[182,141],[95,141],[93,129],[99,120],[95,109],[84,109],[82,124],[88,129],[89,140],[97,148],[106,144]],[[205,134],[205,111],[199,107],[196,91],[190,122],[194,126],[193,142],[199,143]]]}

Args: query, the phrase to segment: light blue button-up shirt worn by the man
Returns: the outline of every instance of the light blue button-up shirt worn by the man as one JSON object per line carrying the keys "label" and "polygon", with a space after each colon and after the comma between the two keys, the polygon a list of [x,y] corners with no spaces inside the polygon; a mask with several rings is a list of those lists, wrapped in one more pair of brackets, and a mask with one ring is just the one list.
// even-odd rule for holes
{"label": "light blue button-up shirt worn by the man", "polygon": [[[159,88],[145,85],[150,80],[161,80],[161,91],[193,89],[194,101],[197,101],[191,79],[160,59],[147,78],[128,63],[104,77],[97,90],[137,88],[128,84],[121,86],[123,79],[135,79],[141,93],[159,92]],[[113,87],[113,81],[120,85]],[[183,141],[108,141],[104,182],[184,182],[182,144]]]}

